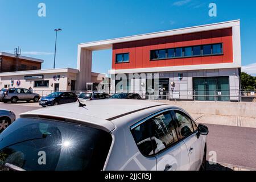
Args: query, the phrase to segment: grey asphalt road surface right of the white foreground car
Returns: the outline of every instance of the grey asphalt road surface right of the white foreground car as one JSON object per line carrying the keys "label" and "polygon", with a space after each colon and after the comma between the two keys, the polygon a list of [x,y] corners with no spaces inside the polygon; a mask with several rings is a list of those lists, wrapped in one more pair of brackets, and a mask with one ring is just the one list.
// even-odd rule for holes
{"label": "grey asphalt road surface right of the white foreground car", "polygon": [[[209,129],[207,154],[214,151],[218,163],[256,170],[256,129],[206,124]],[[207,156],[209,160],[210,156]]]}

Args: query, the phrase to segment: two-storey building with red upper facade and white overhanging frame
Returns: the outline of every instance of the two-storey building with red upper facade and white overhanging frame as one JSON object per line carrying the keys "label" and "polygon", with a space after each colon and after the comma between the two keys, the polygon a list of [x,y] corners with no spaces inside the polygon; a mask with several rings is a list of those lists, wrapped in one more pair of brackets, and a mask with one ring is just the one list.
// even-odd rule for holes
{"label": "two-storey building with red upper facade and white overhanging frame", "polygon": [[[121,88],[145,95],[158,90],[166,98],[237,101],[240,42],[240,20],[233,20],[79,44],[77,65],[82,74],[77,80],[90,75],[92,51],[112,49],[112,92]],[[138,74],[139,78],[129,74]],[[123,84],[123,75],[127,85]],[[155,75],[158,79],[152,80]],[[149,79],[157,82],[157,88],[148,85]],[[77,89],[84,86],[78,81]]]}

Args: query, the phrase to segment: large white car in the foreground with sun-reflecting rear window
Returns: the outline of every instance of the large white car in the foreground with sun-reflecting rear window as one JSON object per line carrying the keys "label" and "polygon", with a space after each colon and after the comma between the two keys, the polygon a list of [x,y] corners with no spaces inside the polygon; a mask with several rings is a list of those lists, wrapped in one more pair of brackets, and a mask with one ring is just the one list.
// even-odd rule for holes
{"label": "large white car in the foreground with sun-reflecting rear window", "polygon": [[138,100],[59,105],[20,114],[3,131],[0,168],[199,170],[207,134],[176,106]]}

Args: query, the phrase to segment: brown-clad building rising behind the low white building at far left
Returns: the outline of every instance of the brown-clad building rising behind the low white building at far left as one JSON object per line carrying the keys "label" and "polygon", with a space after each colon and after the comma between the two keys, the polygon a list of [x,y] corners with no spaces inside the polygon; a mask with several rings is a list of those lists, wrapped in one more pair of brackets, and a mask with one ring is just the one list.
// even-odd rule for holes
{"label": "brown-clad building rising behind the low white building at far left", "polygon": [[0,73],[41,69],[44,61],[33,57],[19,56],[0,52]]}

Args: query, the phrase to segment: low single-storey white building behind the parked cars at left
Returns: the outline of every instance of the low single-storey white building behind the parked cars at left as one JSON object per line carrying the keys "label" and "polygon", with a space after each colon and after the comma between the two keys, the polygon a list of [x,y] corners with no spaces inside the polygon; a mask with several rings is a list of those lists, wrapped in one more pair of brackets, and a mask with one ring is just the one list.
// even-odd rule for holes
{"label": "low single-storey white building behind the parked cars at left", "polygon": [[[79,70],[73,68],[6,72],[0,73],[0,86],[1,88],[22,87],[27,89],[31,87],[35,93],[44,96],[56,91],[76,90],[78,74]],[[97,86],[105,77],[104,74],[92,72],[90,83],[87,85]]]}

